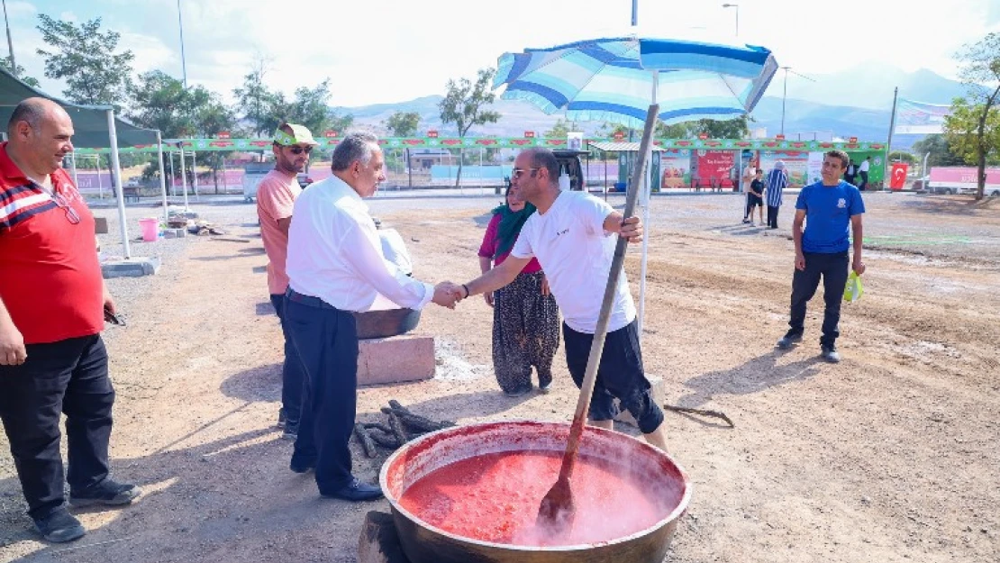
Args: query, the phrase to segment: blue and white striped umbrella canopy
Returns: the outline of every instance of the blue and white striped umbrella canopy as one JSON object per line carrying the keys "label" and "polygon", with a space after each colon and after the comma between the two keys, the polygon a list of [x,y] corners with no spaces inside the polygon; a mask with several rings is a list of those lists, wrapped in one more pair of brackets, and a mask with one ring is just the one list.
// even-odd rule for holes
{"label": "blue and white striped umbrella canopy", "polygon": [[548,114],[641,129],[654,97],[665,123],[739,117],[777,70],[764,47],[619,37],[506,53],[493,87]]}

